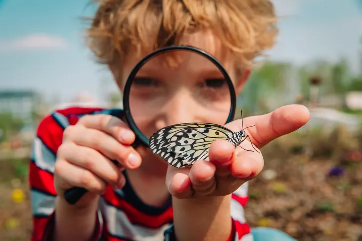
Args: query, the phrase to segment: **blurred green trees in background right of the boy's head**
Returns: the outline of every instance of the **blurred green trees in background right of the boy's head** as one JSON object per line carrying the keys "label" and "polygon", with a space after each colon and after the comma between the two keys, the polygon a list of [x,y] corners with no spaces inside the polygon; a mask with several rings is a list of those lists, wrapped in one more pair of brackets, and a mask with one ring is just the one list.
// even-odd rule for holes
{"label": "blurred green trees in background right of the boy's head", "polygon": [[344,58],[336,63],[317,60],[300,67],[291,63],[266,61],[252,71],[238,98],[238,104],[249,113],[260,114],[295,102],[298,94],[304,97],[304,101],[308,100],[310,78],[314,76],[322,80],[320,96],[336,95],[343,100],[348,91],[362,91],[362,76],[353,75]]}

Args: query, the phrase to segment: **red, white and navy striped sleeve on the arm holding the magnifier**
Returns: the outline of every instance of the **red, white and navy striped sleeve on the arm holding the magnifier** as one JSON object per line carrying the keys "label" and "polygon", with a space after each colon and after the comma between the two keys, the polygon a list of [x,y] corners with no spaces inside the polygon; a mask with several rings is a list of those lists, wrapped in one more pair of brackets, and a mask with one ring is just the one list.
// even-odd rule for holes
{"label": "red, white and navy striped sleeve on the arm holding the magnifier", "polygon": [[[60,113],[45,117],[39,124],[32,145],[29,164],[29,184],[31,195],[31,211],[33,232],[31,241],[51,240],[55,220],[54,166],[57,149],[62,142],[65,127],[69,125],[67,118]],[[94,241],[102,234],[102,216],[98,211]]]}

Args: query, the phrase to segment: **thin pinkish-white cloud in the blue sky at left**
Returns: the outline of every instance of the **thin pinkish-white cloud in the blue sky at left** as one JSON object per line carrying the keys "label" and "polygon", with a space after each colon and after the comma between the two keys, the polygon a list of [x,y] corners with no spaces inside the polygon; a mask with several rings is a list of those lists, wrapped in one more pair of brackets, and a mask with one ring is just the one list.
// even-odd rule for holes
{"label": "thin pinkish-white cloud in the blue sky at left", "polygon": [[19,39],[2,41],[0,50],[28,50],[28,49],[58,49],[65,48],[66,41],[60,37],[54,37],[43,33],[31,34]]}

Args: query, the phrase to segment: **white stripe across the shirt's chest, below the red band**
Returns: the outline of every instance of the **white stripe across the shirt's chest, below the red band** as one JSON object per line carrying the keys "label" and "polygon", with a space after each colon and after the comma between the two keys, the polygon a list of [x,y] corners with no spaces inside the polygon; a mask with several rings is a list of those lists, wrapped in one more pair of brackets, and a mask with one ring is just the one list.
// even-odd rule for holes
{"label": "white stripe across the shirt's chest, below the red band", "polygon": [[[102,198],[101,198],[102,199]],[[158,229],[132,224],[126,214],[101,200],[99,202],[104,218],[108,224],[109,233],[115,236],[127,237],[133,240],[159,241],[164,239],[164,231],[171,224],[165,224]]]}

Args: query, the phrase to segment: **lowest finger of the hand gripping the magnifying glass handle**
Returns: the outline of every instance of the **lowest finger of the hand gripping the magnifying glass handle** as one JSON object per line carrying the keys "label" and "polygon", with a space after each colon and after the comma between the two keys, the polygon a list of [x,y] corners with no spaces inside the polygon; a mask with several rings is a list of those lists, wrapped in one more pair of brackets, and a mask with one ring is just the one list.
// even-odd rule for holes
{"label": "lowest finger of the hand gripping the magnifying glass handle", "polygon": [[55,163],[55,173],[57,173],[62,181],[69,187],[82,187],[89,192],[103,194],[106,191],[107,184],[101,178],[84,168],[78,167],[64,159],[58,159]]}

